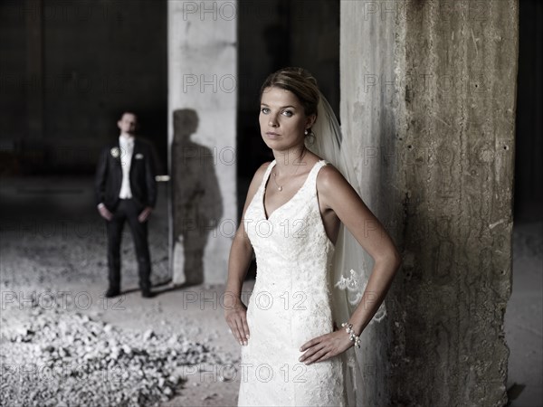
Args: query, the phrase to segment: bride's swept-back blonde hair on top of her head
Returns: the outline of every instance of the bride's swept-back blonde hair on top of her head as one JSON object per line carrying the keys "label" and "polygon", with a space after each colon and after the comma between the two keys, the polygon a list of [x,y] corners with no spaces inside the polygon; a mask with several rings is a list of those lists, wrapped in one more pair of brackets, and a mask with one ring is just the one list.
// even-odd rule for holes
{"label": "bride's swept-back blonde hair on top of her head", "polygon": [[260,99],[267,88],[290,90],[300,100],[306,116],[317,115],[319,106],[319,86],[310,71],[303,68],[282,68],[271,73],[264,80],[260,91]]}

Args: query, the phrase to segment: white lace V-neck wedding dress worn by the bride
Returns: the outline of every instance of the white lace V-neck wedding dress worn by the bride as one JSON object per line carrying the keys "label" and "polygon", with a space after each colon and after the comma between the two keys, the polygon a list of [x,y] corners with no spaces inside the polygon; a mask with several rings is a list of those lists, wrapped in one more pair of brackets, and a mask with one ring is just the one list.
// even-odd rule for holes
{"label": "white lace V-neck wedding dress worn by the bride", "polygon": [[[264,193],[271,169],[243,219],[256,255],[257,276],[242,346],[240,406],[346,405],[341,358],[300,363],[300,346],[332,332],[331,263],[334,244],[319,211],[313,166],[300,190],[269,218]],[[337,321],[336,321],[337,322]]]}

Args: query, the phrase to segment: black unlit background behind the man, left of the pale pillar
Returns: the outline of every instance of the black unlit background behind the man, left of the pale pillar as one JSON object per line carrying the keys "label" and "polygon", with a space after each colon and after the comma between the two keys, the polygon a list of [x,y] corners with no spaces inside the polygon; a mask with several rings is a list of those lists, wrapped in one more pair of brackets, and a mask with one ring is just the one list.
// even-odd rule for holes
{"label": "black unlit background behind the man, left of the pale pillar", "polygon": [[0,44],[0,174],[90,175],[123,109],[166,170],[166,1],[3,1]]}

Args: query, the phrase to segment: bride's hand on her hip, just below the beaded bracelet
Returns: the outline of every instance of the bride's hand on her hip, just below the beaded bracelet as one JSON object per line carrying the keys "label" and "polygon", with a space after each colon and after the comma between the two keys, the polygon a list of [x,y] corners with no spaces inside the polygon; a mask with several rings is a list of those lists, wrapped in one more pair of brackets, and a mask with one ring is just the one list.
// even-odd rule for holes
{"label": "bride's hand on her hip, just below the beaded bracelet", "polygon": [[304,364],[322,362],[345,352],[352,345],[354,345],[354,342],[348,338],[345,329],[317,336],[301,345],[300,352],[305,352],[305,354],[300,356],[300,362]]}

